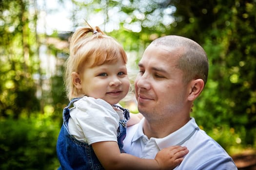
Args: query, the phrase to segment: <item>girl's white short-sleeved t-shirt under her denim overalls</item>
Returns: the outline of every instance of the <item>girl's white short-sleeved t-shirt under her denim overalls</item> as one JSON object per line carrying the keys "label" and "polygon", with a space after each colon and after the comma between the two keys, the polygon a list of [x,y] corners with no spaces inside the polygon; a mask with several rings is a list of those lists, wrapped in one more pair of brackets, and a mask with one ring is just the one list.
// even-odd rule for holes
{"label": "girl's white short-sleeved t-shirt under her denim overalls", "polygon": [[74,102],[70,109],[68,129],[70,135],[89,145],[100,141],[117,141],[119,120],[123,118],[120,109],[108,102],[92,97],[83,97]]}

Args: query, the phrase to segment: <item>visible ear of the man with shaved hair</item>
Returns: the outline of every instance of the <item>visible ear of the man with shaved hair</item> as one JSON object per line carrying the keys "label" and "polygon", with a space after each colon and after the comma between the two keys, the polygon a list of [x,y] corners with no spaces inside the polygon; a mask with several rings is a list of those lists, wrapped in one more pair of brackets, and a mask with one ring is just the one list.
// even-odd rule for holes
{"label": "visible ear of the man with shaved hair", "polygon": [[189,86],[189,96],[188,100],[189,101],[194,101],[197,99],[197,97],[200,95],[204,87],[204,82],[202,79],[196,79],[191,81],[190,86]]}

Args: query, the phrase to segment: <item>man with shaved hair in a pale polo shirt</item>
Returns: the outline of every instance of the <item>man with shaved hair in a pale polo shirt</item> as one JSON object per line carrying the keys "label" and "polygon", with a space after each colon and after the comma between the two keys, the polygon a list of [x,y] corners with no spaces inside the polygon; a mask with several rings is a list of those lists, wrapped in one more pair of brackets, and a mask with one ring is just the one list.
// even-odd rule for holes
{"label": "man with shaved hair in a pale polo shirt", "polygon": [[191,39],[168,35],[154,40],[138,63],[138,110],[144,116],[127,129],[124,150],[154,158],[172,145],[189,153],[175,170],[237,170],[232,158],[190,117],[208,77],[205,51]]}

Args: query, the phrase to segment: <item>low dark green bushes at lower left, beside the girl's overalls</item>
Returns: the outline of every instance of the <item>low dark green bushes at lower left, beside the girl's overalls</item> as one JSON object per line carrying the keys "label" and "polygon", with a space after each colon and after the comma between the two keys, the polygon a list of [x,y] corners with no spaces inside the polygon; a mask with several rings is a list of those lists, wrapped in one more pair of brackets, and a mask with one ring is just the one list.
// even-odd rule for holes
{"label": "low dark green bushes at lower left, beside the girl's overalls", "polygon": [[56,169],[59,166],[56,155],[59,128],[51,116],[38,113],[29,119],[1,120],[0,169]]}

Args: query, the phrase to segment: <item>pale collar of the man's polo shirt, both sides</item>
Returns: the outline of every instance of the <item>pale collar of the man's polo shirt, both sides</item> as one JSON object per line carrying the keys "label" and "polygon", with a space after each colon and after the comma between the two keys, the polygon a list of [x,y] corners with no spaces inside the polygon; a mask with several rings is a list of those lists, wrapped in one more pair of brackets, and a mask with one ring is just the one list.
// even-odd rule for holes
{"label": "pale collar of the man's polo shirt, both sides", "polygon": [[[142,138],[144,135],[143,133],[143,123],[144,119],[138,124],[138,130],[135,132],[133,136],[132,142],[135,142],[139,138]],[[167,148],[169,146],[174,145],[182,145],[185,141],[187,141],[197,130],[199,127],[194,118],[191,118],[184,126],[182,126],[177,131],[173,132],[172,134],[165,136],[163,138],[155,138],[152,137],[151,140],[155,140],[159,149]]]}

